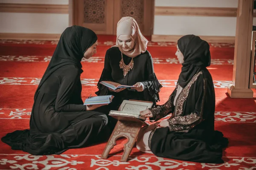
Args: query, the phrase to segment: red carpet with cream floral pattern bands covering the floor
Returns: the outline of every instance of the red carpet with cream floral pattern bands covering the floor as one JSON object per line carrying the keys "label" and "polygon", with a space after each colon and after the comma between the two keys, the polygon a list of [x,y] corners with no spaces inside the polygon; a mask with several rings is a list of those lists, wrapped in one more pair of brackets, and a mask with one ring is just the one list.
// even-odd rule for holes
{"label": "red carpet with cream floral pattern bands covering the floor", "polygon": [[[33,96],[55,49],[56,41],[0,40],[0,137],[14,130],[29,128]],[[82,98],[97,90],[105,51],[115,44],[114,36],[99,36],[97,54],[83,60]],[[224,164],[163,159],[133,148],[130,161],[120,162],[124,139],[119,139],[108,159],[100,156],[106,143],[67,150],[61,155],[32,156],[0,142],[0,170],[253,170],[256,169],[256,98],[231,99],[227,85],[232,82],[234,45],[211,44],[212,74],[216,94],[215,129],[229,139]],[[164,86],[163,104],[172,93],[181,65],[175,56],[176,43],[148,44],[154,70]],[[254,97],[256,97],[256,91]],[[166,119],[166,118],[164,118]]]}

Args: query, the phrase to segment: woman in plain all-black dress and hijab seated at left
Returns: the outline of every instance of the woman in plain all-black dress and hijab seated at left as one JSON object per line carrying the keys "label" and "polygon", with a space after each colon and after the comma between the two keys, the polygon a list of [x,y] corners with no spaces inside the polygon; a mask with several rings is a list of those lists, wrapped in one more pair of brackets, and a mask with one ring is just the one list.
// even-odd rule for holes
{"label": "woman in plain all-black dress and hijab seated at left", "polygon": [[83,105],[81,59],[96,53],[97,36],[81,26],[61,34],[51,61],[35,92],[30,130],[8,133],[2,141],[32,155],[60,154],[92,144],[107,125],[107,116]]}

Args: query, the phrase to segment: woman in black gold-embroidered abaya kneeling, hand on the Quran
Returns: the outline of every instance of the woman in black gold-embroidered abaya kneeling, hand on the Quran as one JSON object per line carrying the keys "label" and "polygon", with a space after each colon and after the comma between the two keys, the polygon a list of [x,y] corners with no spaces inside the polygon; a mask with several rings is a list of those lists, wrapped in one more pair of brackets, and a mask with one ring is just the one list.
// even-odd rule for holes
{"label": "woman in black gold-embroidered abaya kneeling, hand on the Quran", "polygon": [[210,65],[209,44],[195,35],[177,42],[175,54],[182,64],[175,90],[164,105],[140,114],[157,121],[169,113],[168,120],[144,127],[137,148],[156,156],[205,163],[222,163],[222,149],[228,141],[214,130],[215,92]]}

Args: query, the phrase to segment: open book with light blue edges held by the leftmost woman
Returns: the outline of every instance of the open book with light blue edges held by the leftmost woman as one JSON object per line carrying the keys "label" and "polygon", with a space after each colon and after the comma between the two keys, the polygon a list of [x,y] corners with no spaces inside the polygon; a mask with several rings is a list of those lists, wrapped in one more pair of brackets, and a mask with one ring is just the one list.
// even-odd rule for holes
{"label": "open book with light blue edges held by the leftmost woman", "polygon": [[113,95],[106,95],[106,96],[94,96],[85,99],[84,105],[103,105],[109,104],[112,102]]}

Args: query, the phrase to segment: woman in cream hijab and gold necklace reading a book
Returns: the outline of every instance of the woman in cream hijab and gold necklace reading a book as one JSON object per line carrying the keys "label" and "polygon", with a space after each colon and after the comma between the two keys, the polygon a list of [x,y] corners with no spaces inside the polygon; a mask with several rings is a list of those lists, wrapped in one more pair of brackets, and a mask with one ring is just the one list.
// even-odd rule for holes
{"label": "woman in cream hijab and gold necklace reading a book", "polygon": [[[162,85],[154,73],[153,60],[146,50],[148,40],[141,34],[140,28],[132,17],[122,17],[117,23],[116,45],[109,48],[105,55],[105,63],[101,81],[112,81],[121,85],[134,85],[134,88],[119,88],[115,91],[98,83],[98,96],[112,94],[115,97],[109,104],[109,110],[118,110],[123,100],[137,99],[160,101],[158,93]],[[110,118],[111,119],[111,118]],[[111,122],[111,120],[110,120]],[[114,122],[114,123],[113,123]],[[115,121],[112,121],[115,125]]]}

